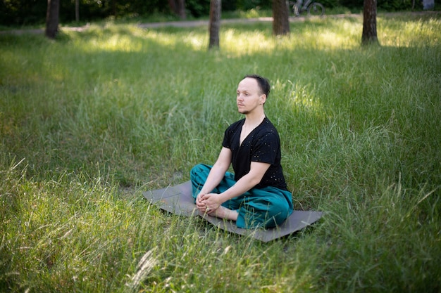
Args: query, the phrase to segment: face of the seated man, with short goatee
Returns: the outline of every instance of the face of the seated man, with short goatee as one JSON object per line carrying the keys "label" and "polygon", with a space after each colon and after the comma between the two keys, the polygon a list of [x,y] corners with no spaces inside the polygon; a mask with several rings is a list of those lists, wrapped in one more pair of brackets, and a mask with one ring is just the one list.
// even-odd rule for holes
{"label": "face of the seated man, with short goatee", "polygon": [[241,114],[249,114],[256,108],[263,107],[266,95],[261,93],[259,84],[254,78],[245,78],[237,86],[237,110]]}

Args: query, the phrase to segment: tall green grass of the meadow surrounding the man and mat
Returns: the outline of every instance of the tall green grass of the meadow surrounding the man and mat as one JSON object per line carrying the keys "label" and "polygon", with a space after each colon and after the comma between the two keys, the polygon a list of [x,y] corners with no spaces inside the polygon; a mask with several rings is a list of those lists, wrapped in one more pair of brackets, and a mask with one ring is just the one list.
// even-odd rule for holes
{"label": "tall green grass of the meadow surrounding the man and mat", "polygon": [[[0,34],[1,292],[440,292],[441,19],[91,25]],[[259,73],[296,209],[262,243],[165,214],[144,190],[213,163]]]}

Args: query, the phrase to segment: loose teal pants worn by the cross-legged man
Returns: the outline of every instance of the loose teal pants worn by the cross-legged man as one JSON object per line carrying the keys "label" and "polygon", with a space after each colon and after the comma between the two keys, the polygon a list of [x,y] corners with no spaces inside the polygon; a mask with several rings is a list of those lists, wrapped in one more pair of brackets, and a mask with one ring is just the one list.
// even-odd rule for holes
{"label": "loose teal pants worn by the cross-legged man", "polygon": [[[192,195],[195,201],[210,170],[209,165],[197,164],[190,171]],[[223,193],[235,183],[234,174],[227,172],[221,183],[211,193]],[[222,205],[238,212],[236,226],[245,229],[278,226],[292,214],[293,209],[291,193],[271,186],[251,188],[247,193],[233,197]]]}

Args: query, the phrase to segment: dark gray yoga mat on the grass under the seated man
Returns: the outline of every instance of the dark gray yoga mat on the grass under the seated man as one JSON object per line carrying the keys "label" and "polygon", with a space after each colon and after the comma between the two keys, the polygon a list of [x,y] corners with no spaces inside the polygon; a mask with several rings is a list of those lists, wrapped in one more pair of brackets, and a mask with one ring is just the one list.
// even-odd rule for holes
{"label": "dark gray yoga mat on the grass under the seated man", "polygon": [[321,211],[293,211],[291,216],[278,227],[270,229],[242,229],[237,228],[234,221],[218,219],[199,212],[194,204],[192,183],[190,181],[175,186],[168,186],[167,188],[146,191],[143,195],[149,202],[170,213],[180,216],[201,216],[218,228],[240,235],[251,235],[263,242],[295,233],[318,221],[323,214]]}

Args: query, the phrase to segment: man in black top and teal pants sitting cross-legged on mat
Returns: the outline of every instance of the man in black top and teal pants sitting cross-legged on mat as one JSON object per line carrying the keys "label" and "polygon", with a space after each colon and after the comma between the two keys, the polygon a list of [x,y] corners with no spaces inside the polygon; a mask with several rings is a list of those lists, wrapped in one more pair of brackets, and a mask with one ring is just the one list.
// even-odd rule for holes
{"label": "man in black top and teal pants sitting cross-legged on mat", "polygon": [[[280,138],[263,111],[270,88],[259,75],[242,79],[236,103],[244,119],[225,131],[213,167],[198,164],[190,172],[197,209],[236,221],[239,228],[271,228],[292,213],[292,195],[280,164]],[[227,171],[230,164],[235,174]]]}

